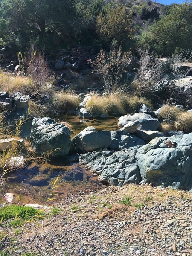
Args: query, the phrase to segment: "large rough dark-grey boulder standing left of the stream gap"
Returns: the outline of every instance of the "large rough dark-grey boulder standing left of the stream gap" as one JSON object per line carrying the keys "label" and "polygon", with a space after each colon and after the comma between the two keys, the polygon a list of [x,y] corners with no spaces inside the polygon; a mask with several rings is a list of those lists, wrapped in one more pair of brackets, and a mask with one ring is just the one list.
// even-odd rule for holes
{"label": "large rough dark-grey boulder standing left of the stream gap", "polygon": [[33,119],[30,139],[37,154],[47,152],[53,157],[61,157],[70,150],[69,128],[47,117]]}

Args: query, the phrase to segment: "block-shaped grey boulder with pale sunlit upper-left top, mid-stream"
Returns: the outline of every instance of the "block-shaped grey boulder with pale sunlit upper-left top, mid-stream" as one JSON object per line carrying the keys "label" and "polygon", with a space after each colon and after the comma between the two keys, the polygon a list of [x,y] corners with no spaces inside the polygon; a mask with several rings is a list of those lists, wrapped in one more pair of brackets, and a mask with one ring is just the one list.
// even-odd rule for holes
{"label": "block-shaped grey boulder with pale sunlit upper-left top, mid-stream", "polygon": [[89,126],[73,138],[73,148],[79,153],[95,151],[100,148],[108,148],[111,144],[110,131],[96,131]]}

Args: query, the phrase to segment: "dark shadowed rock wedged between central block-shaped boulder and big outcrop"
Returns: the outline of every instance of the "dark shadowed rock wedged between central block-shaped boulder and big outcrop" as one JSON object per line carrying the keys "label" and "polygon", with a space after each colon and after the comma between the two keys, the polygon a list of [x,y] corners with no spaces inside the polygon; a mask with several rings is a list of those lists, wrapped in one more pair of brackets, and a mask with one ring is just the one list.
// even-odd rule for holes
{"label": "dark shadowed rock wedged between central block-shaped boulder and big outcrop", "polygon": [[126,131],[111,131],[111,144],[109,149],[121,150],[125,148],[131,148],[134,146],[143,146],[145,142],[135,135],[129,134]]}

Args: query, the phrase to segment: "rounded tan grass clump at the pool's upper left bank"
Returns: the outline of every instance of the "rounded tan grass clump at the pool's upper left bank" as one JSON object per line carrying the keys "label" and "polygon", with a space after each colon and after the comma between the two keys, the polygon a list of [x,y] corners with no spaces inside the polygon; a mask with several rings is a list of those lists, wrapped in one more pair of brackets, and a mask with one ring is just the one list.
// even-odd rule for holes
{"label": "rounded tan grass clump at the pool's upper left bank", "polygon": [[55,93],[53,96],[53,107],[58,113],[75,110],[79,106],[78,96],[72,90]]}

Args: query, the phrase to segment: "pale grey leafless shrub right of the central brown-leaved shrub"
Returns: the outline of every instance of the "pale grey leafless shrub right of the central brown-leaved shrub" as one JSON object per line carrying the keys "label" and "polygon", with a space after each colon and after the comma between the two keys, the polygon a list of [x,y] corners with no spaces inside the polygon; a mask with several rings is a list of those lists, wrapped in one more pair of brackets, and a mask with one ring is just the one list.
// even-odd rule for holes
{"label": "pale grey leafless shrub right of the central brown-leaved shrub", "polygon": [[150,86],[161,80],[164,70],[163,64],[150,52],[149,47],[146,49],[138,48],[138,53],[140,55],[139,69],[133,84],[137,84],[139,93],[144,93]]}

